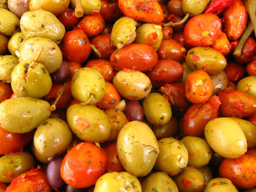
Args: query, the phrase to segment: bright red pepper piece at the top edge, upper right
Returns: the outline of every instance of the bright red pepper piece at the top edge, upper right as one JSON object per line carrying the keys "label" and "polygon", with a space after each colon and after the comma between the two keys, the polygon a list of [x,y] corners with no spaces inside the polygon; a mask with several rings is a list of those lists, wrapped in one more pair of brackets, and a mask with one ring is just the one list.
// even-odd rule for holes
{"label": "bright red pepper piece at the top edge, upper right", "polygon": [[235,0],[214,0],[207,6],[206,14],[220,14],[226,7],[230,6]]}

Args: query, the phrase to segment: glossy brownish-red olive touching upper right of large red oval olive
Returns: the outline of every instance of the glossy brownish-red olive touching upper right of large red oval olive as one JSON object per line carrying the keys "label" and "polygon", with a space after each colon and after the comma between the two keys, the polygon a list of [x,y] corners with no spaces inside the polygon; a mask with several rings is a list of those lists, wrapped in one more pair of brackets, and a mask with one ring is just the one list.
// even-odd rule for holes
{"label": "glossy brownish-red olive touching upper right of large red oval olive", "polygon": [[158,50],[158,58],[167,58],[176,62],[184,62],[186,49],[174,39],[162,40]]}

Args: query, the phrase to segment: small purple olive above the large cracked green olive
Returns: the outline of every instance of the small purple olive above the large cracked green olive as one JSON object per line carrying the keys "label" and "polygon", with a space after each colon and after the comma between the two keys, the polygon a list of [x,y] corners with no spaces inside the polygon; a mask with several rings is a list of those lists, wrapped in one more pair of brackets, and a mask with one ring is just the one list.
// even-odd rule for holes
{"label": "small purple olive above the large cracked green olive", "polygon": [[138,101],[129,101],[126,103],[125,114],[129,121],[143,121],[144,112]]}

